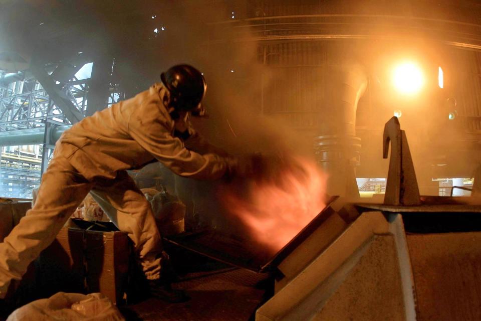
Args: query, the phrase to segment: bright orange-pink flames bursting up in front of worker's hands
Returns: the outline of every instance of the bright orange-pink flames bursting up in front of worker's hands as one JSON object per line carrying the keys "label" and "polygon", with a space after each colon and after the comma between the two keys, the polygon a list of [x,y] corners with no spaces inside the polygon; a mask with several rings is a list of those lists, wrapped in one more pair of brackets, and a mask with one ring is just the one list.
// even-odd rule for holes
{"label": "bright orange-pink flames bursting up in front of worker's hands", "polygon": [[314,162],[297,158],[275,179],[253,184],[247,198],[227,192],[224,200],[252,236],[276,253],[324,209],[326,182]]}

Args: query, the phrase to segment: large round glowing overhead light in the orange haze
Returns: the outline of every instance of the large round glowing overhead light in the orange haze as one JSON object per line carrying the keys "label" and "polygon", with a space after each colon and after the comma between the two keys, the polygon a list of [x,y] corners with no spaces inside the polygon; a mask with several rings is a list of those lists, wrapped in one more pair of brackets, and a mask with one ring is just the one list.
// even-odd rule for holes
{"label": "large round glowing overhead light in the orange haze", "polygon": [[394,68],[392,76],[394,87],[402,94],[416,94],[424,85],[424,76],[421,69],[411,62],[398,65]]}

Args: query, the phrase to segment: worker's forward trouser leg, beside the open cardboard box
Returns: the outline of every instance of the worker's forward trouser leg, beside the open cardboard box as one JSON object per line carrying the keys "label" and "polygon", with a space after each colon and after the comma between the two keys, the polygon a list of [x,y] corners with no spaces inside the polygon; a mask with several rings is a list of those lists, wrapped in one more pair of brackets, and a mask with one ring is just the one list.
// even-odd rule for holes
{"label": "worker's forward trouser leg, beside the open cardboard box", "polygon": [[147,279],[160,277],[162,243],[150,203],[127,172],[115,180],[96,183],[90,192],[119,230],[134,242],[137,258]]}

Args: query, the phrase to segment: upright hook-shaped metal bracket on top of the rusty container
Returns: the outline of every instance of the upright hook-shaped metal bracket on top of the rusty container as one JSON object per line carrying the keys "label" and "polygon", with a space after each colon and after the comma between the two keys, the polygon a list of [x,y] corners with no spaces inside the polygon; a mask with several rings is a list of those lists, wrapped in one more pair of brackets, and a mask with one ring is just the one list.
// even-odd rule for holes
{"label": "upright hook-shaped metal bracket on top of the rusty container", "polygon": [[406,133],[401,130],[397,117],[384,126],[383,158],[387,158],[391,142],[391,159],[387,176],[385,205],[420,205],[419,188],[412,164]]}

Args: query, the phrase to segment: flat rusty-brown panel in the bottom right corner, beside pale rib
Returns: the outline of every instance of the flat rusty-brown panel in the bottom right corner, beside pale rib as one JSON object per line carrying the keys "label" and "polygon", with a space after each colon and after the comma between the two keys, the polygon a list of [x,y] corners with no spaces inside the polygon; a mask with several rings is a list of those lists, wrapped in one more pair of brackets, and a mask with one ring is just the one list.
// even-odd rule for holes
{"label": "flat rusty-brown panel in the bottom right corner, beside pale rib", "polygon": [[481,320],[481,232],[407,235],[417,320]]}

